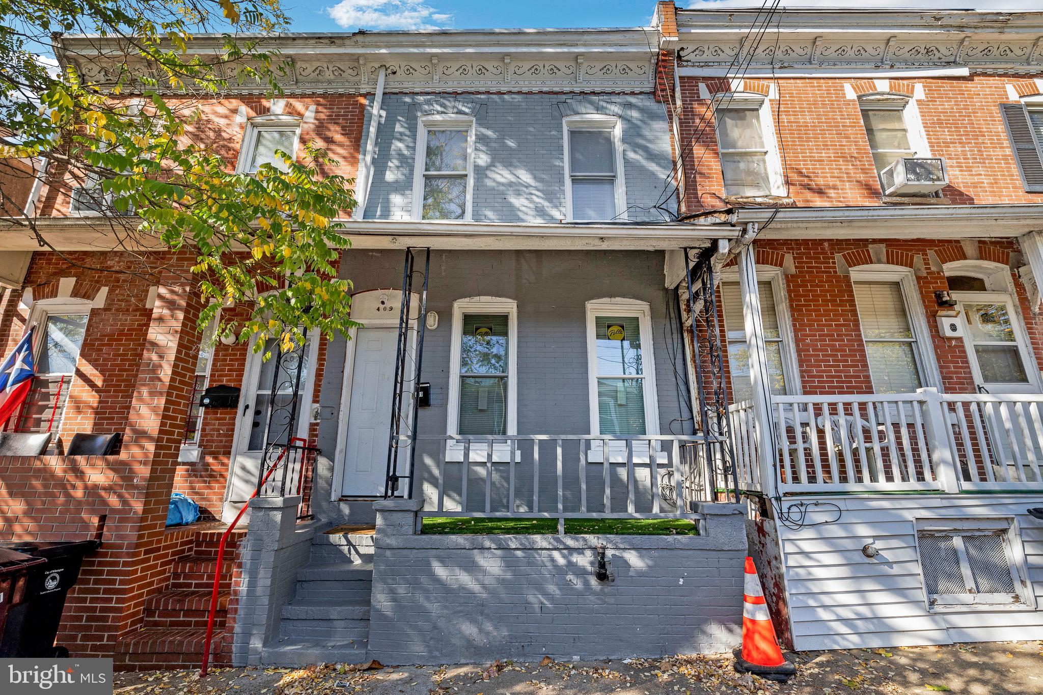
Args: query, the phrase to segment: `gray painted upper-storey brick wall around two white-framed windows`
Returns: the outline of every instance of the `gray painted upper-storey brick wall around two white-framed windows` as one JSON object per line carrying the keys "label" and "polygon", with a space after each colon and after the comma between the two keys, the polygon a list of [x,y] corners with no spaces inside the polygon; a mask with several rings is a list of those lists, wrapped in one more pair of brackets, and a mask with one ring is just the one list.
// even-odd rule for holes
{"label": "gray painted upper-storey brick wall around two white-framed windows", "polygon": [[[651,207],[671,172],[669,123],[652,95],[388,94],[382,110],[366,219],[413,219],[418,113],[474,113],[472,219],[480,222],[558,222],[565,217],[563,115],[621,118],[627,205]],[[363,127],[365,132],[368,111]],[[674,209],[674,197],[663,206]],[[631,208],[620,219],[661,218]]]}

